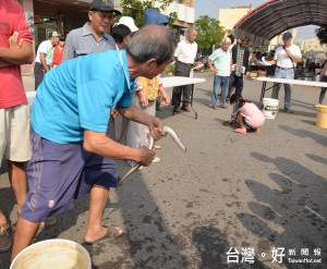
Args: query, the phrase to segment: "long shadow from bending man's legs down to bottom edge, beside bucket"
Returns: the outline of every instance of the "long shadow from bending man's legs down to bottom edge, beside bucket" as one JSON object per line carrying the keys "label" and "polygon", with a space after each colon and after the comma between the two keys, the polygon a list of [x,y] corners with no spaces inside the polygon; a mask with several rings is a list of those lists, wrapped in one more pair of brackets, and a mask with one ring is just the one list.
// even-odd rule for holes
{"label": "long shadow from bending man's legs down to bottom edge, beside bucket", "polygon": [[187,268],[186,259],[180,254],[179,243],[170,233],[142,174],[131,175],[117,188],[117,195],[124,233],[93,247],[90,254],[106,257],[104,249],[110,248],[119,248],[119,253],[114,260],[107,258],[106,262],[94,265],[93,268]]}

